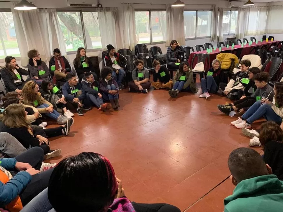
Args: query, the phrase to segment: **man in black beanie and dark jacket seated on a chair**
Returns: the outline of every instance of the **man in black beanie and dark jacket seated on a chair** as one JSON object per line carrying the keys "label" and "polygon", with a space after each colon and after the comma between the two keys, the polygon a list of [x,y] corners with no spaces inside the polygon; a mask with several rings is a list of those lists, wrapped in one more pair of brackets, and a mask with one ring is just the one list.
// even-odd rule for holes
{"label": "man in black beanie and dark jacket seated on a chair", "polygon": [[122,80],[125,76],[124,68],[127,65],[127,59],[123,55],[116,53],[113,45],[109,44],[106,47],[108,53],[104,58],[104,64],[113,70],[112,77],[117,82],[119,89],[122,90],[124,87]]}

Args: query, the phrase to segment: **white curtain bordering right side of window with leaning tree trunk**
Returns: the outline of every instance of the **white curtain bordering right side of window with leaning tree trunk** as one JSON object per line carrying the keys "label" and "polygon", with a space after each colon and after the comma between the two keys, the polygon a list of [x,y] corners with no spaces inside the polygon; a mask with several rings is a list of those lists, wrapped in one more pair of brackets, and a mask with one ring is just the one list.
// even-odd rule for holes
{"label": "white curtain bordering right side of window with leaning tree trunk", "polygon": [[102,48],[105,50],[108,44],[116,48],[115,8],[100,8],[98,20]]}

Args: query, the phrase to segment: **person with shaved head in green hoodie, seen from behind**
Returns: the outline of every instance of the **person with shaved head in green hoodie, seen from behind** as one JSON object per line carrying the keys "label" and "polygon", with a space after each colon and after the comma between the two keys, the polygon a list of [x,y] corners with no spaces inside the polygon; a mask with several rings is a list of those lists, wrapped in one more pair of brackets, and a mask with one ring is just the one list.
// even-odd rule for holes
{"label": "person with shaved head in green hoodie, seen from behind", "polygon": [[224,212],[281,212],[283,181],[272,174],[260,154],[250,148],[237,148],[228,158],[233,194],[224,199]]}

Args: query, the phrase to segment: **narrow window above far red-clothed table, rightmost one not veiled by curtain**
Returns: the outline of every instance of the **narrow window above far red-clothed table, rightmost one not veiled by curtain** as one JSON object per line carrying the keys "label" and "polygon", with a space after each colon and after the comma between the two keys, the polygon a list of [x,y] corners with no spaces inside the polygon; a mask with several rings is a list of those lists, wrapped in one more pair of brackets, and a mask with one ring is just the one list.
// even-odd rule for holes
{"label": "narrow window above far red-clothed table, rightmost one not veiled by curtain", "polygon": [[235,34],[237,18],[238,18],[238,11],[236,10],[223,11],[223,19],[222,19],[223,35]]}

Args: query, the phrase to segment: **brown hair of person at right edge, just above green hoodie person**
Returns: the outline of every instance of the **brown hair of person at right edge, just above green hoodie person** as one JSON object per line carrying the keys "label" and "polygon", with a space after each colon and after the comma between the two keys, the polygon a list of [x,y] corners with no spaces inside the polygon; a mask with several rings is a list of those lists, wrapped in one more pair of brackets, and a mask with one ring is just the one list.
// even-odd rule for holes
{"label": "brown hair of person at right edge, just above green hoodie person", "polygon": [[283,140],[283,131],[277,123],[273,121],[267,121],[261,125],[259,141],[261,142],[263,148],[265,144],[269,141],[283,142],[282,140]]}

